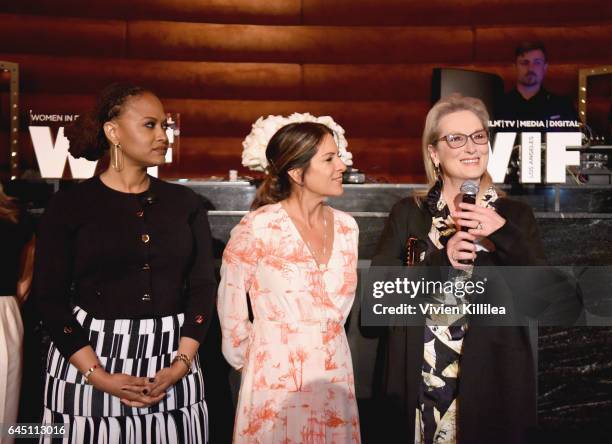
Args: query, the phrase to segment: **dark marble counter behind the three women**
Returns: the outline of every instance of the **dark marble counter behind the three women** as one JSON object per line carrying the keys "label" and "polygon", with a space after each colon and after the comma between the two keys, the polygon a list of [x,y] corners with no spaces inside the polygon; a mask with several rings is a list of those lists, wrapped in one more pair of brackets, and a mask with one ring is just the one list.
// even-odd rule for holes
{"label": "dark marble counter behind the three women", "polygon": [[[255,188],[248,183],[187,183],[210,208],[215,256],[221,257],[233,226],[248,211]],[[395,202],[422,185],[346,185],[330,205],[355,217],[360,228],[359,268],[369,267],[388,212]],[[509,197],[526,202],[536,220],[549,262],[554,265],[612,264],[612,186],[525,186],[508,188]],[[558,211],[555,211],[558,210]],[[364,424],[376,417],[371,382],[377,340],[363,337],[355,303],[347,336],[353,354],[357,396]],[[532,327],[538,362],[536,441],[586,437],[599,433],[612,415],[612,333],[609,328]],[[536,346],[537,344],[537,346]],[[584,430],[588,429],[589,432]],[[597,436],[597,435],[594,435]],[[557,438],[558,437],[558,438]]]}

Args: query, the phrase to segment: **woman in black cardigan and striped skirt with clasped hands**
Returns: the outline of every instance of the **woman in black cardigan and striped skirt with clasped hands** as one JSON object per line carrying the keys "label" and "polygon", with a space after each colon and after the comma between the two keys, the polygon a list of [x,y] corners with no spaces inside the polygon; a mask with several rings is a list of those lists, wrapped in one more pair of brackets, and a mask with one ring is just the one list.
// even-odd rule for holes
{"label": "woman in black cardigan and striped skirt with clasped hands", "polygon": [[205,443],[197,351],[216,291],[211,235],[193,191],[146,173],[165,161],[163,106],[111,85],[66,135],[74,157],[110,166],[60,190],[40,223],[43,422],[65,424],[67,442]]}

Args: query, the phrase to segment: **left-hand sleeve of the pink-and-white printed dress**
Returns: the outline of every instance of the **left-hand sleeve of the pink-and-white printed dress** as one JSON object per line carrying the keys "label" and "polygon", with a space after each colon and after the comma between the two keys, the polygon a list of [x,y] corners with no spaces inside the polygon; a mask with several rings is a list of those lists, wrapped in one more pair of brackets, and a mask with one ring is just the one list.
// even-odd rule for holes
{"label": "left-hand sleeve of the pink-and-white printed dress", "polygon": [[223,252],[217,298],[223,338],[221,348],[227,362],[236,369],[242,368],[245,362],[252,328],[247,293],[253,285],[262,250],[261,241],[253,232],[253,214],[248,214],[232,230]]}

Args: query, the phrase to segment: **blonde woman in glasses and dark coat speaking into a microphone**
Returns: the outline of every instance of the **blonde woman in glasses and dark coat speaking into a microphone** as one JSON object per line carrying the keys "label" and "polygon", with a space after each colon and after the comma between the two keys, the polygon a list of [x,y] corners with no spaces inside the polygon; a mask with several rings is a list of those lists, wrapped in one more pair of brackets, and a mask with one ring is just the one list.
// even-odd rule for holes
{"label": "blonde woman in glasses and dark coat speaking into a microphone", "polygon": [[[459,95],[429,111],[422,145],[428,191],[393,207],[373,266],[544,264],[531,209],[504,198],[487,173],[488,120],[480,100]],[[478,185],[475,204],[462,202],[466,181]],[[382,336],[381,419],[393,442],[524,441],[536,418],[527,328],[463,317],[450,326],[390,327]]]}

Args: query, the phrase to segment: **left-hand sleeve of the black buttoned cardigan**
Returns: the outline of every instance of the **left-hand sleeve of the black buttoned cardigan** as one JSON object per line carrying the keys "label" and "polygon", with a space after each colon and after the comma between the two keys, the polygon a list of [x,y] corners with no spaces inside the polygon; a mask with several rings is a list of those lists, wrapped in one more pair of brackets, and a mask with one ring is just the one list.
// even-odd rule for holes
{"label": "left-hand sleeve of the black buttoned cardigan", "polygon": [[70,287],[74,266],[72,193],[58,193],[40,222],[36,239],[33,297],[51,339],[65,358],[89,345],[88,336],[72,315]]}

